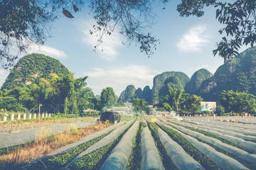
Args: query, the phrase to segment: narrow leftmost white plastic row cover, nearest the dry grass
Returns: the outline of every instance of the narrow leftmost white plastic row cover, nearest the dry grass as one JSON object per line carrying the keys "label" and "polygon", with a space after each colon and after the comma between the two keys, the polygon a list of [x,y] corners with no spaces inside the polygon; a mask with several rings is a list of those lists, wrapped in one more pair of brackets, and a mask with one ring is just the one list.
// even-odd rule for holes
{"label": "narrow leftmost white plastic row cover, nearest the dry grass", "polygon": [[66,145],[64,147],[60,147],[59,149],[56,149],[55,151],[50,152],[49,154],[46,154],[43,157],[40,157],[38,159],[33,160],[33,162],[31,162],[29,164],[26,164],[25,166],[22,166],[21,169],[26,168],[26,166],[29,166],[29,165],[33,164],[34,162],[38,162],[41,159],[45,159],[47,157],[51,157],[51,156],[55,156],[55,155],[58,155],[58,154],[66,153],[66,152],[74,149],[75,147],[78,147],[78,145],[81,145],[81,144],[83,144],[85,142],[88,142],[90,140],[94,140],[97,137],[105,135],[106,133],[108,133],[111,130],[114,130],[114,129],[120,127],[121,125],[124,125],[124,122],[120,122],[120,123],[117,123],[115,125],[109,126],[109,127],[105,128],[103,130],[100,130],[98,132],[93,133],[92,135],[87,135],[86,137],[83,137],[82,139],[78,140],[78,142],[74,142],[74,143],[72,143],[70,145]]}

